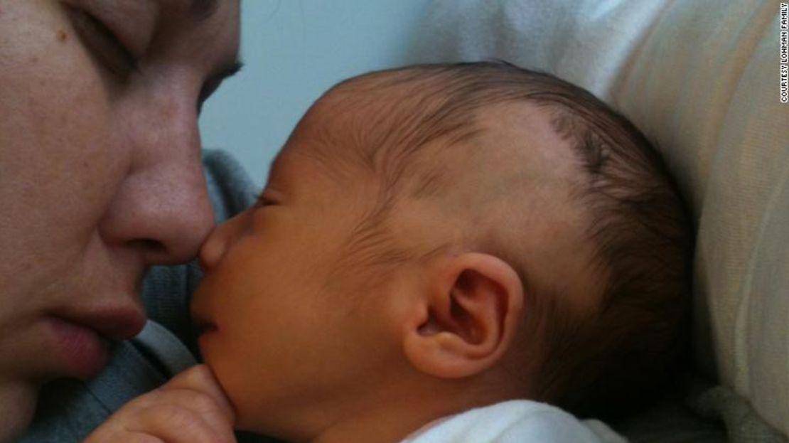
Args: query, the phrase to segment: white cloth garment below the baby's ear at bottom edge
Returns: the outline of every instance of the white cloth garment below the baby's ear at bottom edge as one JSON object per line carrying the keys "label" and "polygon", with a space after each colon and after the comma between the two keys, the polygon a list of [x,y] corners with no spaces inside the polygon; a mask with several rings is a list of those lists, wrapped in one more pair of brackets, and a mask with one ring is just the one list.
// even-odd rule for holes
{"label": "white cloth garment below the baby's ear at bottom edge", "polygon": [[451,415],[402,443],[626,443],[599,420],[578,420],[544,403],[510,400]]}

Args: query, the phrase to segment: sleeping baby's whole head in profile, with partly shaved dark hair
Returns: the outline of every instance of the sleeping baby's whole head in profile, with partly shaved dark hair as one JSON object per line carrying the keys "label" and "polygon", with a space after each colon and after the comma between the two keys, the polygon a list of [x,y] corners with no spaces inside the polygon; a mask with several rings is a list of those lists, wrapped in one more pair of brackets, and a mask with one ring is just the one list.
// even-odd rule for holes
{"label": "sleeping baby's whole head in profile, with partly shaved dark hair", "polygon": [[403,437],[512,398],[610,416],[682,354],[691,246],[660,158],[588,92],[415,66],[316,102],[259,204],[208,238],[193,312],[265,434]]}

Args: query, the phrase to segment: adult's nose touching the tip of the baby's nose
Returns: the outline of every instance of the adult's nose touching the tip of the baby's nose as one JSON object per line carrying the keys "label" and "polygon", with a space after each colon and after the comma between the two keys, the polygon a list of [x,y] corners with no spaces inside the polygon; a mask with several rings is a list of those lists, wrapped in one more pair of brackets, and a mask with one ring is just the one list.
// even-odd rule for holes
{"label": "adult's nose touching the tip of the baby's nose", "polygon": [[129,110],[130,167],[100,229],[142,250],[147,265],[191,260],[214,226],[193,101],[159,96]]}

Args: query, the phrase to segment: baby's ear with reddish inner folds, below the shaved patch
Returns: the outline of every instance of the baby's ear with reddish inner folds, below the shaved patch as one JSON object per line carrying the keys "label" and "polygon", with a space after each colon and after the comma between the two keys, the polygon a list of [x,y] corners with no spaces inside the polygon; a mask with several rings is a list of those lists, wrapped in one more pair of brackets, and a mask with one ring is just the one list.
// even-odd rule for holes
{"label": "baby's ear with reddish inner folds, below the shaved patch", "polygon": [[521,319],[523,288],[507,262],[463,253],[432,267],[427,293],[409,321],[404,350],[425,374],[479,374],[504,355]]}

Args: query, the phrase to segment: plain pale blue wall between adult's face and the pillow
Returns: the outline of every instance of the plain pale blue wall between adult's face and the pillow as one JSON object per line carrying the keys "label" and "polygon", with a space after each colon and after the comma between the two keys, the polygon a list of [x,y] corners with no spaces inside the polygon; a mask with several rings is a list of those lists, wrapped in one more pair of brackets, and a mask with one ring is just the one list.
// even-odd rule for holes
{"label": "plain pale blue wall between adult's face and the pillow", "polygon": [[428,0],[243,0],[244,69],[200,118],[203,145],[234,153],[259,185],[309,105],[332,84],[401,66]]}

